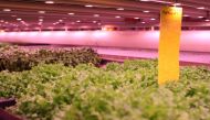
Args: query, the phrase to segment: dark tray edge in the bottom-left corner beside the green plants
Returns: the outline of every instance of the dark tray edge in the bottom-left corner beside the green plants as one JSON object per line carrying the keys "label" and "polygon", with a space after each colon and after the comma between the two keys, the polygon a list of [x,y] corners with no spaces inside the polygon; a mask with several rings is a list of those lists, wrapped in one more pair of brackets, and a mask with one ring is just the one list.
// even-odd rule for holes
{"label": "dark tray edge in the bottom-left corner beside the green plants", "polygon": [[21,120],[20,118],[7,112],[7,107],[14,106],[17,103],[14,98],[0,98],[0,120]]}

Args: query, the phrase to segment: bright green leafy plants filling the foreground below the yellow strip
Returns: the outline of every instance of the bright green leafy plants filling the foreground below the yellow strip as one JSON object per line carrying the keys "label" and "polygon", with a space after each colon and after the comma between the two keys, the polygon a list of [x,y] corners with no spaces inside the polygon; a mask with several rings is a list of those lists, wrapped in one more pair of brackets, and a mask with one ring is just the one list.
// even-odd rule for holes
{"label": "bright green leafy plants filling the foreground below the yellow strip", "polygon": [[157,85],[157,61],[41,64],[0,73],[0,97],[29,120],[210,120],[210,69],[182,67],[180,81]]}

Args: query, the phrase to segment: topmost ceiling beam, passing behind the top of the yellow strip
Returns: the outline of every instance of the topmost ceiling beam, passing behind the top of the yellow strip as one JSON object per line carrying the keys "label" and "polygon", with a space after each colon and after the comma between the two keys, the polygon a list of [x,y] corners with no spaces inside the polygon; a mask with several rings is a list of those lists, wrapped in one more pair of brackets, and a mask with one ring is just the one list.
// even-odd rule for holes
{"label": "topmost ceiling beam, passing behind the top of the yellow strip", "polygon": [[[165,0],[171,1],[171,0]],[[130,10],[151,10],[159,11],[161,7],[166,4],[151,3],[151,2],[139,2],[139,1],[129,1],[129,0],[55,0],[59,3],[69,3],[69,4],[93,4],[99,7],[112,7],[112,8],[125,8]],[[203,15],[203,11],[198,11],[193,8],[183,8],[185,13],[191,13],[197,15]]]}

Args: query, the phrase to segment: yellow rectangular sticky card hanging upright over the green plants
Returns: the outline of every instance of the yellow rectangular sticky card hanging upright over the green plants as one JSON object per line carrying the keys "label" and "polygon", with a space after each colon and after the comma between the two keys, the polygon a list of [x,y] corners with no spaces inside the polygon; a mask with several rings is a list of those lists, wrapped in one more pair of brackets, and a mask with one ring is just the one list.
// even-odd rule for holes
{"label": "yellow rectangular sticky card hanging upright over the green plants", "polygon": [[179,43],[182,9],[164,7],[160,13],[158,84],[179,79]]}

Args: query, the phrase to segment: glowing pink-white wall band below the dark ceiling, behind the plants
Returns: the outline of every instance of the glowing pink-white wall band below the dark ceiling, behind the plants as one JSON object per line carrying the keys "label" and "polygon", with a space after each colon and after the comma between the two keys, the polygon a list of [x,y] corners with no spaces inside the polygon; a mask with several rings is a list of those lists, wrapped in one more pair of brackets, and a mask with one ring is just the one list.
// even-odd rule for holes
{"label": "glowing pink-white wall band below the dark ceiling, behind the plants", "polygon": [[[158,31],[1,32],[0,42],[158,48]],[[170,41],[170,39],[168,39]],[[182,31],[181,51],[210,52],[210,31]]]}

